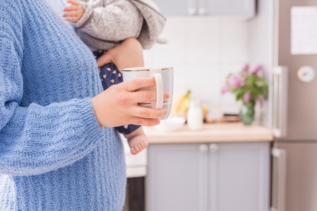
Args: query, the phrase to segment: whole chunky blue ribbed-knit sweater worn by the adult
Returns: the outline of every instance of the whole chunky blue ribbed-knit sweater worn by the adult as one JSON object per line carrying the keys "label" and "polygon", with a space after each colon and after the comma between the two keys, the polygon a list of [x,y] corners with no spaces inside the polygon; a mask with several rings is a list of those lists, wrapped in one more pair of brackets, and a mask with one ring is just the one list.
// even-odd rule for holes
{"label": "whole chunky blue ribbed-knit sweater worn by the adult", "polygon": [[0,0],[0,210],[122,210],[124,150],[98,124],[100,92],[91,51],[46,1]]}

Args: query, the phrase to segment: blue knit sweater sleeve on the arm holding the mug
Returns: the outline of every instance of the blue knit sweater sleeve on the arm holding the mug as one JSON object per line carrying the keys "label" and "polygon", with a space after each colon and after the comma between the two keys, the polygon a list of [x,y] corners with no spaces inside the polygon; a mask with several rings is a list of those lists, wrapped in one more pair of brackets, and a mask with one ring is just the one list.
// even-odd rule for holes
{"label": "blue knit sweater sleeve on the arm holding the mug", "polygon": [[91,99],[21,106],[22,18],[16,1],[0,1],[0,174],[36,175],[87,155],[103,137]]}

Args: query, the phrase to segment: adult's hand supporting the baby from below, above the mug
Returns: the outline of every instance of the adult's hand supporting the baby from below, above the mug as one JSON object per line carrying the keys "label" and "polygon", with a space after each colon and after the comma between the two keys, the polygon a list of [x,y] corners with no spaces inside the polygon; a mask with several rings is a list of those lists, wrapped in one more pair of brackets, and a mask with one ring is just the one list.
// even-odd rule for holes
{"label": "adult's hand supporting the baby from below, above the mug", "polygon": [[143,49],[135,38],[125,39],[117,47],[110,49],[97,60],[98,67],[113,63],[122,73],[123,68],[144,66]]}

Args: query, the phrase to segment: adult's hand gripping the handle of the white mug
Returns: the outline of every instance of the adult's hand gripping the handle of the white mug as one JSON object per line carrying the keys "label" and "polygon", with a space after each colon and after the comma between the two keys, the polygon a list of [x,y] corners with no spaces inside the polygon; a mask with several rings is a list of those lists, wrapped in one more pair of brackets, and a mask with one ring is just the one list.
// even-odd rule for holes
{"label": "adult's hand gripping the handle of the white mug", "polygon": [[[92,98],[93,108],[101,127],[114,127],[125,124],[153,126],[160,123],[159,118],[167,114],[166,109],[153,109],[139,106],[139,102],[155,101],[156,91],[140,88],[155,87],[155,79],[137,78],[112,85]],[[164,100],[170,98],[164,94]]]}

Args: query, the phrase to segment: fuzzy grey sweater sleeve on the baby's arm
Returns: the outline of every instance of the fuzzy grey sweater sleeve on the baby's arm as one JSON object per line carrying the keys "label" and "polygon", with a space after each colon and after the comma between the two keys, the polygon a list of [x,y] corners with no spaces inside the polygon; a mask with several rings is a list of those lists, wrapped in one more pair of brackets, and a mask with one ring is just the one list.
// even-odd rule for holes
{"label": "fuzzy grey sweater sleeve on the baby's arm", "polygon": [[93,8],[80,2],[85,10],[84,16],[74,27],[97,39],[121,41],[140,34],[143,16],[138,8],[126,0],[118,0],[106,7]]}

